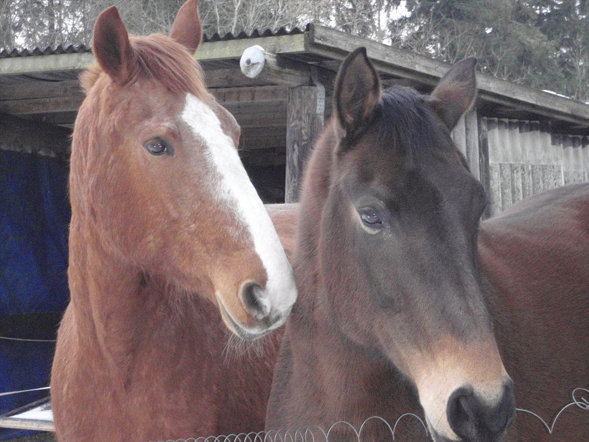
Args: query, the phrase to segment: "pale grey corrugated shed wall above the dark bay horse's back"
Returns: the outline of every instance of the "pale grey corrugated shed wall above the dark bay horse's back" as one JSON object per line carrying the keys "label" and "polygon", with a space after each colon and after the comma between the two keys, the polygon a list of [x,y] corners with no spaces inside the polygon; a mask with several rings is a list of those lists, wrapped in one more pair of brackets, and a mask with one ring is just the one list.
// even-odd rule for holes
{"label": "pale grey corrugated shed wall above the dark bay horse's back", "polygon": [[[475,126],[469,118],[459,121],[452,138],[485,185],[486,216],[544,190],[589,182],[589,136],[555,134],[538,121],[482,117]],[[469,131],[477,132],[477,143]]]}

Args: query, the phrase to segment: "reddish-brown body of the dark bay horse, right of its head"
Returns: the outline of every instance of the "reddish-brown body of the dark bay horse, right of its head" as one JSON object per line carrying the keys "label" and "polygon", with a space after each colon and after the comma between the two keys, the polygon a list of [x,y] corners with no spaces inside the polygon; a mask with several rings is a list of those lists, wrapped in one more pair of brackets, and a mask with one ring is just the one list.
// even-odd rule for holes
{"label": "reddish-brown body of the dark bay horse, right of its head", "polygon": [[[589,381],[589,185],[532,196],[482,222],[478,250],[516,404],[551,425],[573,389]],[[514,442],[587,438],[587,411],[576,405],[558,417],[552,436],[521,411],[509,431]]]}

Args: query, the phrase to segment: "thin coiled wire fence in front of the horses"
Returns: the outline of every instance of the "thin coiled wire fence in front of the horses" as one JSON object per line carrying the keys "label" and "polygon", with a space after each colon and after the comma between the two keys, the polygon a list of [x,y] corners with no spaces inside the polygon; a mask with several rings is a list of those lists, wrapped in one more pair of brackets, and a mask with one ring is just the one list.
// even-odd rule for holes
{"label": "thin coiled wire fence in front of the horses", "polygon": [[[589,390],[587,388],[575,388],[571,394],[572,401],[558,411],[557,415],[552,420],[551,424],[548,424],[538,414],[524,408],[516,408],[520,414],[529,414],[532,417],[537,418],[539,425],[544,425],[548,434],[553,434],[555,425],[561,414],[570,407],[578,407],[581,410],[589,411]],[[166,441],[159,440],[157,442],[335,442],[340,439],[340,434],[335,436],[336,431],[343,428],[348,428],[349,436],[346,437],[346,441],[357,441],[362,442],[362,433],[366,428],[366,425],[372,421],[377,421],[385,425],[385,428],[391,435],[389,440],[396,441],[395,431],[398,424],[403,419],[416,419],[423,427],[424,440],[428,440],[429,433],[428,428],[423,420],[416,414],[404,413],[391,425],[385,418],[380,416],[372,416],[363,421],[360,427],[356,428],[354,425],[347,421],[338,421],[332,424],[327,430],[320,427],[319,425],[310,425],[309,427],[290,428],[288,430],[270,430],[260,431],[259,433],[239,433],[239,434],[227,434],[221,436],[207,436],[207,437],[190,437],[187,439],[168,439]],[[330,437],[337,437],[338,439]],[[368,437],[368,436],[367,436]],[[372,436],[370,436],[372,440]],[[402,439],[399,439],[402,442]]]}

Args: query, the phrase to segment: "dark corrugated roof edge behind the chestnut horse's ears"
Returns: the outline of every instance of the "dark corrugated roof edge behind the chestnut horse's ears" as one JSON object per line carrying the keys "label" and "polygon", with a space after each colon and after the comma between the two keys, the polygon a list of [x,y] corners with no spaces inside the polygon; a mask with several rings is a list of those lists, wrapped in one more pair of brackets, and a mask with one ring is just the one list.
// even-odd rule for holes
{"label": "dark corrugated roof edge behind the chestnut horse's ears", "polygon": [[[307,24],[305,30],[309,29],[309,25]],[[214,32],[213,34],[205,34],[203,41],[205,42],[214,42],[214,41],[227,41],[227,40],[240,40],[246,38],[259,38],[259,37],[279,37],[280,35],[297,35],[303,34],[305,30],[301,30],[300,28],[293,28],[293,29],[286,29],[286,28],[279,28],[276,31],[272,31],[272,29],[254,29],[249,34],[245,31],[241,31],[237,35],[231,34],[231,32],[227,32],[227,34],[220,35],[219,32]],[[32,57],[35,55],[58,55],[58,54],[81,54],[82,52],[91,52],[91,47],[86,46],[84,44],[70,44],[70,45],[58,45],[55,48],[48,46],[45,49],[41,48],[34,48],[34,49],[12,49],[6,50],[3,49],[0,51],[0,58],[11,58],[11,57]]]}

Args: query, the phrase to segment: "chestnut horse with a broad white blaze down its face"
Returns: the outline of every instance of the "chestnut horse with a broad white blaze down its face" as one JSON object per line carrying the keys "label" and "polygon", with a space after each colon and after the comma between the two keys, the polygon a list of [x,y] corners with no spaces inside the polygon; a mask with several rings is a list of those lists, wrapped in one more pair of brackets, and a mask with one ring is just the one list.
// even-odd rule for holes
{"label": "chestnut horse with a broad white blaze down its face", "polygon": [[296,288],[237,155],[239,126],[193,59],[200,40],[196,0],[169,37],[129,38],[114,7],[95,25],[51,376],[59,441],[263,428],[273,354],[226,362],[227,328],[277,328]]}

